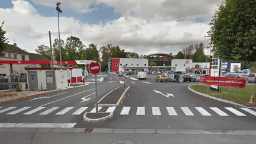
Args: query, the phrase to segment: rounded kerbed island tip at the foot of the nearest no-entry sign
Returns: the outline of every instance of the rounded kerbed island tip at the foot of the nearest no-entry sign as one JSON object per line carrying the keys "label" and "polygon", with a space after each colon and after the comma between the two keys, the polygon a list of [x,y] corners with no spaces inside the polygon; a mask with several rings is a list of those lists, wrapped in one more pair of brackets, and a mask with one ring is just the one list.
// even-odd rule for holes
{"label": "rounded kerbed island tip at the foot of the nearest no-entry sign", "polygon": [[113,117],[113,112],[107,113],[107,112],[98,112],[96,113],[85,113],[84,114],[84,120],[88,121],[89,123],[91,122],[98,122],[98,121],[104,121],[107,119],[111,119]]}

